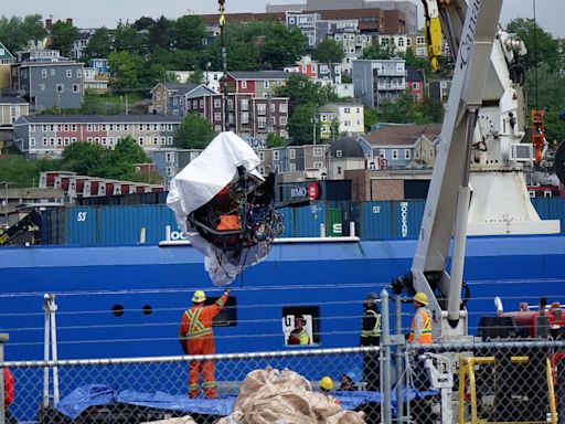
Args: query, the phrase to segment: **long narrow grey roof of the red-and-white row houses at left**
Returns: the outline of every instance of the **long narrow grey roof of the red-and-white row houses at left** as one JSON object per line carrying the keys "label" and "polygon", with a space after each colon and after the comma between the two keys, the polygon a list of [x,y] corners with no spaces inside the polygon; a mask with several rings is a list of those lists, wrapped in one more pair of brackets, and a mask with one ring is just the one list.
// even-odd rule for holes
{"label": "long narrow grey roof of the red-and-white row houses at left", "polygon": [[182,117],[174,115],[29,115],[22,116],[31,124],[180,124]]}

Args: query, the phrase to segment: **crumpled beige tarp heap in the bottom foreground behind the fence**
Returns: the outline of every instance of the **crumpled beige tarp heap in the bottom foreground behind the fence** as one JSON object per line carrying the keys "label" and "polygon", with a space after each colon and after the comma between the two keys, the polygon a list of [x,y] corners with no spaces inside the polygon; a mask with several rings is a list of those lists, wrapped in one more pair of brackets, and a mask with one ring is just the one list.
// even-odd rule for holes
{"label": "crumpled beige tarp heap in the bottom foreground behind the fence", "polygon": [[289,370],[247,374],[234,412],[217,424],[364,424],[362,412],[344,411],[331,396],[312,392],[310,383]]}

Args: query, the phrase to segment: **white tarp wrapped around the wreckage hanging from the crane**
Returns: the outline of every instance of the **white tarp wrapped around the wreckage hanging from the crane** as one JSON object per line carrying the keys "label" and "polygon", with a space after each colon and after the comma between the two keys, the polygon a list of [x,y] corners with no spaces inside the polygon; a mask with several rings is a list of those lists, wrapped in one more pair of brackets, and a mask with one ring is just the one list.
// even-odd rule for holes
{"label": "white tarp wrapped around the wreckage hanging from the crane", "polygon": [[215,247],[199,233],[189,232],[186,216],[211,201],[227,186],[243,166],[258,179],[256,171],[260,159],[250,146],[233,132],[221,132],[171,181],[167,204],[177,216],[177,223],[191,244],[204,256],[204,267],[216,286],[232,283],[245,266],[260,262],[268,253],[267,243],[238,251],[224,252]]}

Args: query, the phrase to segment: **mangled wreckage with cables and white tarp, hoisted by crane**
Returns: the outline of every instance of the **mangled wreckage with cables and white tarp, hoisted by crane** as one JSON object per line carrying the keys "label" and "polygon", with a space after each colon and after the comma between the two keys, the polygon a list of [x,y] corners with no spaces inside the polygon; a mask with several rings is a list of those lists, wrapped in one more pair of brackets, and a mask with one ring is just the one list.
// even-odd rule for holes
{"label": "mangled wreckage with cables and white tarp, hoisted by crane", "polygon": [[221,132],[169,188],[167,204],[191,244],[205,255],[216,286],[260,262],[282,233],[275,211],[276,176],[256,170],[260,159],[233,132]]}

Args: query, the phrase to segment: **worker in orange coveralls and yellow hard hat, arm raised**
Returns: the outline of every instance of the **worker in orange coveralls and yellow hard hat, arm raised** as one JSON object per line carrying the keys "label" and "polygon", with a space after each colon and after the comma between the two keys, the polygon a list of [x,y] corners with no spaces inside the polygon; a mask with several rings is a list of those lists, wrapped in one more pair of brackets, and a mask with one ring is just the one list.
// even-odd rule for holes
{"label": "worker in orange coveralls and yellow hard hat, arm raised", "polygon": [[[204,306],[206,294],[202,290],[194,292],[192,296],[192,307],[184,311],[179,326],[179,341],[185,354],[213,354],[215,353],[214,333],[212,331],[212,320],[220,314],[224,307],[230,289],[226,288],[214,304]],[[216,398],[216,383],[214,380],[214,362],[191,361],[189,372],[189,396],[199,395],[200,370],[204,383],[204,395],[206,398]]]}

